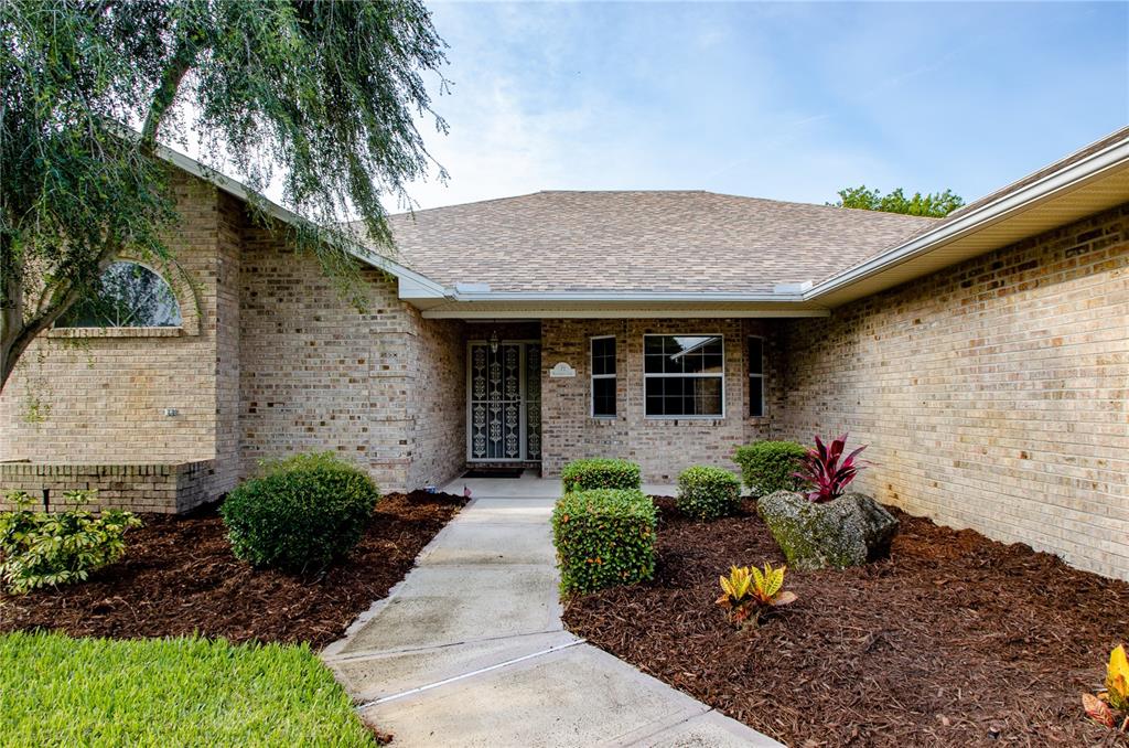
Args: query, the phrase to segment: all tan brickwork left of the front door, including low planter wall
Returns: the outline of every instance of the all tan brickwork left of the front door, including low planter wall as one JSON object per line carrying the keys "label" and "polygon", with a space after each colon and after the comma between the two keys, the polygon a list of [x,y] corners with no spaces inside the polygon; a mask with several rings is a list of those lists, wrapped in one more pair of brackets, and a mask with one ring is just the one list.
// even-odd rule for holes
{"label": "all tan brickwork left of the front door, including low planter wall", "polygon": [[[156,269],[183,328],[38,339],[0,397],[0,493],[90,487],[104,502],[185,511],[257,460],[307,450],[341,453],[385,490],[462,470],[462,323],[421,319],[375,270],[361,314],[239,201],[184,173],[175,190],[182,223],[167,242],[183,272]],[[208,468],[187,480],[185,463]],[[166,477],[99,478],[154,470]]]}

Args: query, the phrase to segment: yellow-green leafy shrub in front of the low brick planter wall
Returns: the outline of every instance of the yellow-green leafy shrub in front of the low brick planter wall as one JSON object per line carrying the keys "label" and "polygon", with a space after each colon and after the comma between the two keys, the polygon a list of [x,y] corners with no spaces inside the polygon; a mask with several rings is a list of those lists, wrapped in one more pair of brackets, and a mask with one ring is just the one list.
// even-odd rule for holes
{"label": "yellow-green leafy shrub in front of the low brick planter wall", "polygon": [[[63,498],[81,505],[96,493],[71,490]],[[0,582],[14,594],[85,581],[121,558],[125,531],[141,525],[133,514],[119,510],[98,516],[82,508],[33,512],[21,492],[8,494],[8,501],[17,508],[0,513]]]}

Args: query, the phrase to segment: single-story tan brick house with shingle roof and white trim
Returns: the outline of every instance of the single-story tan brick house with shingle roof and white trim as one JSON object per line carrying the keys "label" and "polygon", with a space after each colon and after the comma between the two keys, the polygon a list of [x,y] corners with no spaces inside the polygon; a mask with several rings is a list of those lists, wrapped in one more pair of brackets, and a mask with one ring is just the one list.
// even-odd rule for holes
{"label": "single-story tan brick house with shingle roof and white trim", "polygon": [[121,266],[145,310],[24,356],[0,488],[184,511],[306,450],[388,490],[593,455],[658,482],[850,432],[879,501],[1129,579],[1129,128],[940,220],[708,192],[396,216],[392,256],[352,247],[362,313],[165,157],[181,268]]}

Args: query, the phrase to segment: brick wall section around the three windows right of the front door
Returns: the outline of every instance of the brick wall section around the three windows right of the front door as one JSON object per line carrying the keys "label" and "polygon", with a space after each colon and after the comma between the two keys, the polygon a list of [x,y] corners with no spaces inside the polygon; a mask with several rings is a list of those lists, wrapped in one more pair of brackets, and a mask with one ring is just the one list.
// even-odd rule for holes
{"label": "brick wall section around the three windows right of the front door", "polygon": [[[546,476],[560,475],[570,460],[590,456],[625,458],[642,467],[647,481],[669,482],[693,464],[715,464],[736,471],[734,447],[763,437],[779,412],[780,394],[771,368],[765,376],[765,418],[749,418],[749,334],[763,334],[767,363],[777,351],[772,325],[759,320],[543,320],[542,360],[545,371],[558,362],[576,369],[576,377],[542,379],[542,424]],[[725,340],[725,417],[657,419],[644,416],[642,337],[649,333],[720,333]],[[589,339],[615,336],[616,417],[590,417]]]}

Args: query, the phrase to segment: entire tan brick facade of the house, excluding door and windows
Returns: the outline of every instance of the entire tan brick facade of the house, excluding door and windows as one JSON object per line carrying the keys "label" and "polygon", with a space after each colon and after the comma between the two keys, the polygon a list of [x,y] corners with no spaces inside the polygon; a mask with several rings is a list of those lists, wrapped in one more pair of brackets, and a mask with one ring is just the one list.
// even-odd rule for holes
{"label": "entire tan brick facade of the house, excluding door and windows", "polygon": [[[0,492],[185,511],[256,462],[333,450],[382,488],[465,464],[466,341],[542,341],[545,475],[622,456],[648,481],[727,469],[756,438],[849,430],[881,501],[1129,579],[1129,207],[808,320],[425,320],[366,270],[367,310],[209,184],[175,181],[178,330],[55,331],[0,397]],[[719,333],[723,418],[644,416],[647,333]],[[590,417],[589,340],[615,336],[614,419]],[[765,350],[747,417],[749,336]],[[564,362],[575,377],[552,379]],[[18,462],[23,461],[23,462]],[[3,464],[7,462],[7,464]],[[52,501],[52,505],[58,504]]]}

